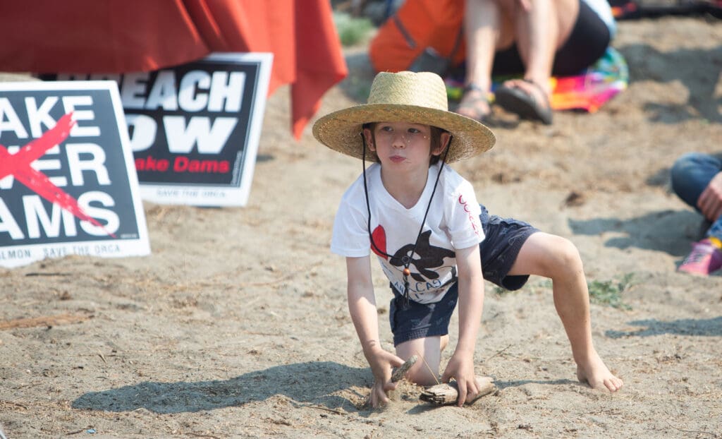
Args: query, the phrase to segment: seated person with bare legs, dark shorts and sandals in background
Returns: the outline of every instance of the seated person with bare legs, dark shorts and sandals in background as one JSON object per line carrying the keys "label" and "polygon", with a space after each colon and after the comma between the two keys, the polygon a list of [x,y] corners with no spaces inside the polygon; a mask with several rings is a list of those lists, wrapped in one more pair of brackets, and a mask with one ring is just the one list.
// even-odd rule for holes
{"label": "seated person with bare legs, dark shorts and sandals in background", "polygon": [[591,66],[615,32],[607,0],[466,0],[466,77],[456,111],[483,122],[492,74],[521,74],[495,90],[496,103],[551,124],[549,78]]}

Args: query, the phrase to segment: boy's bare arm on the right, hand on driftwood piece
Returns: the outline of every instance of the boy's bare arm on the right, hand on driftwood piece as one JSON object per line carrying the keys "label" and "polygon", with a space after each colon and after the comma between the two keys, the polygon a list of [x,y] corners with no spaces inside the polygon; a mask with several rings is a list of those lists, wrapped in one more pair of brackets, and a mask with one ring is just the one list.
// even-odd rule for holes
{"label": "boy's bare arm on the right, hand on driftwood piece", "polygon": [[484,276],[479,246],[456,250],[458,269],[458,344],[444,370],[443,382],[458,384],[458,405],[479,393],[474,372],[474,346],[484,308]]}

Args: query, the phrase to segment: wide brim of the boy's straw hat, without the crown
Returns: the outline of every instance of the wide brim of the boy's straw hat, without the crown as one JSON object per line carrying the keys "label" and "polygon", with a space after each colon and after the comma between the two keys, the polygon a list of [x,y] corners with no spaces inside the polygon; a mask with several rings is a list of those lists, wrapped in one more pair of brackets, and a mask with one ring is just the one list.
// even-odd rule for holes
{"label": "wide brim of the boy's straw hat, without the crown", "polygon": [[[445,129],[453,136],[446,156],[447,163],[483,153],[490,150],[496,142],[494,133],[489,128],[461,114],[422,106],[386,103],[367,103],[327,114],[313,124],[313,137],[332,150],[362,158],[362,126],[370,122],[412,122]],[[378,158],[367,150],[366,160],[378,161]]]}

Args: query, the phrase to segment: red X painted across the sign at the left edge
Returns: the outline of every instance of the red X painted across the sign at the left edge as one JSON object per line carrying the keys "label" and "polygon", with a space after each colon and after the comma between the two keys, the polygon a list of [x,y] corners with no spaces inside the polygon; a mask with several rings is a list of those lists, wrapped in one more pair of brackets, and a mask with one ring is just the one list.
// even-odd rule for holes
{"label": "red X painted across the sign at the left edge", "polygon": [[[38,171],[32,169],[30,163],[45,155],[49,149],[55,145],[60,145],[70,135],[70,130],[74,126],[75,121],[72,119],[72,113],[66,114],[58,120],[55,127],[49,129],[40,138],[32,140],[32,142],[20,148],[17,153],[11,154],[4,145],[0,145],[0,179],[5,176],[12,175],[17,181],[25,184],[33,192],[45,198],[51,203],[58,203],[61,208],[68,210],[82,221],[88,221],[93,226],[103,228],[95,218],[88,216],[75,198],[57,187],[51,180]],[[107,233],[107,231],[106,231]],[[113,234],[110,236],[115,237]]]}

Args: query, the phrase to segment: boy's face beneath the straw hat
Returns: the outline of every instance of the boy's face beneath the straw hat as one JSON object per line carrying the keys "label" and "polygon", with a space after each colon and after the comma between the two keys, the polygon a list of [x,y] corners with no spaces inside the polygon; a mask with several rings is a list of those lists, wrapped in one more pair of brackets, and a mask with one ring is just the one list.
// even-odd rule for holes
{"label": "boy's face beneath the straw hat", "polygon": [[448,133],[441,135],[440,145],[432,148],[431,127],[409,122],[377,122],[373,133],[364,129],[368,148],[378,155],[383,166],[429,165],[432,155],[440,155],[448,142]]}

